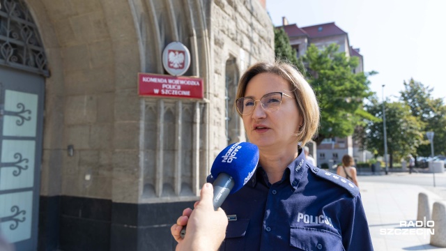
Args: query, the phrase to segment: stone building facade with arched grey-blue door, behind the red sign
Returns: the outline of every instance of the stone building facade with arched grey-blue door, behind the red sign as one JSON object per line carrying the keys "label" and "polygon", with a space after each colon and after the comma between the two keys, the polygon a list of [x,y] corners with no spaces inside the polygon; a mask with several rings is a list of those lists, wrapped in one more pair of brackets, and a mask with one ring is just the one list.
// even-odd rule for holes
{"label": "stone building facade with arched grey-blue door, behind the red sign", "polygon": [[[18,251],[173,250],[215,156],[245,140],[231,104],[274,59],[265,1],[0,4],[1,234]],[[173,41],[204,98],[138,95]]]}

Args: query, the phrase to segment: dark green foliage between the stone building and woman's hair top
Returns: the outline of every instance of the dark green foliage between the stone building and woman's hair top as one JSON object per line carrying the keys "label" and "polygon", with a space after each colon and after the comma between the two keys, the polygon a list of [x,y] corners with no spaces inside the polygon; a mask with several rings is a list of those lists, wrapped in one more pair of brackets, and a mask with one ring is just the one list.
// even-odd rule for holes
{"label": "dark green foliage between the stone building and woman's hair top", "polygon": [[274,29],[274,52],[277,59],[289,61],[299,70],[303,69],[295,50],[290,45],[288,35],[282,27]]}

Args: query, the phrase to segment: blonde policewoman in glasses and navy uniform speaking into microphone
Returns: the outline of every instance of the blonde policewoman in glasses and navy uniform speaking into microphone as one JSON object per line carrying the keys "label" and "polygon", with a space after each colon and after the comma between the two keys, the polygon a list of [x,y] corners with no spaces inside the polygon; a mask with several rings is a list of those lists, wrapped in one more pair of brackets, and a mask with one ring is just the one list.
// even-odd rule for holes
{"label": "blonde policewoman in glasses and navy uniform speaking into microphone", "polygon": [[229,224],[220,250],[373,250],[358,188],[307,163],[298,146],[319,124],[316,96],[298,70],[254,64],[240,79],[236,109],[260,158],[222,204]]}

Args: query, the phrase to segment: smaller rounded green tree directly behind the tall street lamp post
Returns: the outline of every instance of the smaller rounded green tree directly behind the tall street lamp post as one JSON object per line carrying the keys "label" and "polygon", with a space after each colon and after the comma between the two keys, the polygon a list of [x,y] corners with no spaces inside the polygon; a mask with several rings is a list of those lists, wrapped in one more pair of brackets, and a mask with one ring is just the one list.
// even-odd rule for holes
{"label": "smaller rounded green tree directly behind the tall street lamp post", "polygon": [[[367,105],[367,111],[380,121],[367,121],[362,144],[369,151],[378,151],[384,155],[383,104],[373,100]],[[412,115],[410,107],[403,102],[385,103],[385,124],[387,132],[387,153],[390,155],[390,167],[393,159],[413,153],[423,142],[422,123]]]}

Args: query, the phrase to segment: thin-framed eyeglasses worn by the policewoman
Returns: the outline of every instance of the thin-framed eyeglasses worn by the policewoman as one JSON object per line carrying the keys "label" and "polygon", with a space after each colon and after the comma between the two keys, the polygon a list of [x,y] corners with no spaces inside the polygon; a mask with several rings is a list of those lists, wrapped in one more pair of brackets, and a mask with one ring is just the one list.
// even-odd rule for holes
{"label": "thin-framed eyeglasses worn by the policewoman", "polygon": [[237,98],[236,107],[237,111],[241,115],[252,114],[254,108],[256,107],[256,102],[260,101],[261,107],[266,112],[275,112],[279,109],[280,104],[282,104],[282,96],[293,98],[282,92],[272,92],[263,95],[260,100],[253,100],[252,98]]}

